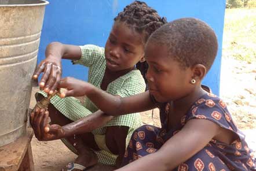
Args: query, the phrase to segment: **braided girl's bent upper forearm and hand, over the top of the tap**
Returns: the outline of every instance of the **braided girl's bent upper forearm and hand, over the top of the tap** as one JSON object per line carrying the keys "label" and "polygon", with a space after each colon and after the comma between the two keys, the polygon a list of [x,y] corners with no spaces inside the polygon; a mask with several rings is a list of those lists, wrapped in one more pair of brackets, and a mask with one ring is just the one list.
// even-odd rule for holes
{"label": "braided girl's bent upper forearm and hand, over the top of the tap", "polygon": [[[43,72],[42,79],[39,83],[45,92],[53,92],[61,79],[61,58],[68,60],[79,60],[82,52],[79,46],[52,42],[48,44],[45,50],[45,60],[41,61],[35,70],[34,79]],[[51,94],[51,93],[50,93]]]}

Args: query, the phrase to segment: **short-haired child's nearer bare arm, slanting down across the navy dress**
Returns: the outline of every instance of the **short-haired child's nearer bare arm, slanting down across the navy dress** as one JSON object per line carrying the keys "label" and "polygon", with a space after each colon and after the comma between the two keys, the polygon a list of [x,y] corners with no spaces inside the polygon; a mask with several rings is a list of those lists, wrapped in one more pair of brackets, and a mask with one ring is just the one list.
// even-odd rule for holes
{"label": "short-haired child's nearer bare arm, slanting down across the navy dress", "polygon": [[173,170],[202,150],[221,132],[221,127],[209,120],[190,120],[159,151],[142,157],[118,171],[125,170]]}

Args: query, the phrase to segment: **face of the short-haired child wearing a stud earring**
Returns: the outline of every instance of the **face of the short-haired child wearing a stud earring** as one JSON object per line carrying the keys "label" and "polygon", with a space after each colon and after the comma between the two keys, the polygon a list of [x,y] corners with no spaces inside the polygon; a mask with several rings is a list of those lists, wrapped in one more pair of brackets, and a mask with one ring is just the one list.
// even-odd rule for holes
{"label": "face of the short-haired child wearing a stud earring", "polygon": [[149,92],[156,101],[175,101],[192,91],[191,69],[182,69],[180,63],[170,57],[166,46],[149,42],[145,47],[145,58],[149,65]]}

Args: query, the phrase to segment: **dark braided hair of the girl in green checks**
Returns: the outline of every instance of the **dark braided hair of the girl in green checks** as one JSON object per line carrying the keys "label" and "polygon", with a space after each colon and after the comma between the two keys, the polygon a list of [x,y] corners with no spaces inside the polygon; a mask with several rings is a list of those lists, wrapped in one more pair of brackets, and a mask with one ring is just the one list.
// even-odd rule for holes
{"label": "dark braided hair of the girl in green checks", "polygon": [[[120,12],[118,16],[114,18],[115,22],[125,22],[129,27],[132,27],[139,34],[143,35],[143,42],[146,43],[149,36],[163,24],[166,24],[166,18],[161,18],[155,9],[150,8],[147,3],[134,1],[130,5],[127,5],[123,12]],[[148,82],[146,80],[146,73],[148,70],[147,62],[138,62],[136,68],[140,70],[147,88]]]}

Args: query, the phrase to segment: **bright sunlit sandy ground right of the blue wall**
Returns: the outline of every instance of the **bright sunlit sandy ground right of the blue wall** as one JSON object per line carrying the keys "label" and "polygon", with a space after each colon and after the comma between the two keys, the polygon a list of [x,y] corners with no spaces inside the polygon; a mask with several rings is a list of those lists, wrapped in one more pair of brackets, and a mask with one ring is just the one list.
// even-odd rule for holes
{"label": "bright sunlit sandy ground right of the blue wall", "polygon": [[256,129],[256,63],[222,58],[220,96],[240,129]]}

